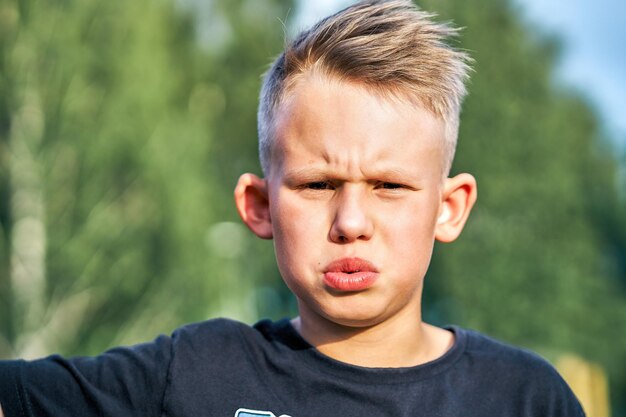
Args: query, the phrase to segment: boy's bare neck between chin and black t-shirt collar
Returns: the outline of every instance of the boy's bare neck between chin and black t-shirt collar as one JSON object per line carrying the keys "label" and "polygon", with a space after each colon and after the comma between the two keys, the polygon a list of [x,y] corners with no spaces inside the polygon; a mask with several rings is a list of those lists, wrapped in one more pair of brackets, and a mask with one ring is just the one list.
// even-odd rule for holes
{"label": "boy's bare neck between chin and black t-shirt collar", "polygon": [[368,368],[400,368],[441,357],[454,343],[451,332],[431,326],[415,315],[366,327],[345,326],[302,314],[292,324],[312,346],[340,362]]}

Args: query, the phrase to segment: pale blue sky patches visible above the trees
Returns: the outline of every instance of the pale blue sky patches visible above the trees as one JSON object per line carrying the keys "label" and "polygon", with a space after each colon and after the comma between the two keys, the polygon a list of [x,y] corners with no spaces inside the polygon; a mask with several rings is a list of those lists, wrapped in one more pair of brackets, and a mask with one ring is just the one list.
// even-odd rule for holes
{"label": "pale blue sky patches visible above the trees", "polygon": [[[626,0],[514,1],[524,19],[562,40],[555,79],[590,100],[608,135],[626,152]],[[298,25],[308,26],[349,3],[302,0]]]}

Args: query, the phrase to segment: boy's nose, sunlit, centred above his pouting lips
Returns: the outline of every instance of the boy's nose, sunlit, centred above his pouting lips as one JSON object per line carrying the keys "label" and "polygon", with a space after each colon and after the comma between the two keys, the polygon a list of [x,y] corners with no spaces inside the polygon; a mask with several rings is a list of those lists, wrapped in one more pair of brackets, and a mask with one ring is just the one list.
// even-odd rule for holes
{"label": "boy's nose, sunlit, centred above his pouting lips", "polygon": [[369,240],[373,232],[374,224],[365,193],[344,185],[337,195],[330,240],[335,243]]}

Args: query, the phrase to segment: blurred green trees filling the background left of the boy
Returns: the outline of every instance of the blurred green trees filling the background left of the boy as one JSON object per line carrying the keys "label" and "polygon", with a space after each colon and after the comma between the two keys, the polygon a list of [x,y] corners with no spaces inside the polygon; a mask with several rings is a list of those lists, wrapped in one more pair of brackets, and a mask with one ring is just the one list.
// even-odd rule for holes
{"label": "blurred green trees filling the background left of the boy", "polygon": [[1,356],[256,315],[245,275],[272,266],[237,261],[229,167],[253,158],[288,6],[211,2],[223,33],[200,43],[199,5],[0,2]]}

